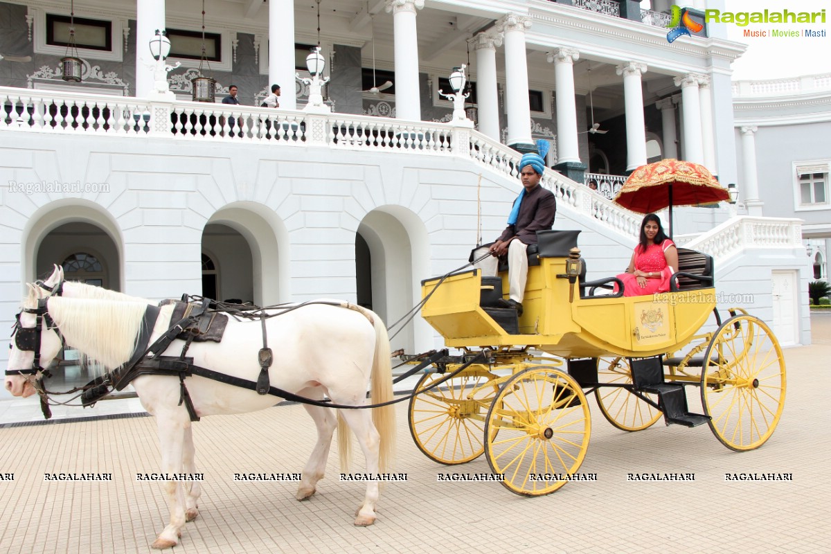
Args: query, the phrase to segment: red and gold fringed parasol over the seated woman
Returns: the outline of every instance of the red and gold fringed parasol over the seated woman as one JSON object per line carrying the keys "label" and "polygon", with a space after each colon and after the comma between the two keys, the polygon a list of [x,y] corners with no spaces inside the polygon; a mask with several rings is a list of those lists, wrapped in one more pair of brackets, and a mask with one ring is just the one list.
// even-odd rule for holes
{"label": "red and gold fringed parasol over the seated woman", "polygon": [[727,189],[701,164],[661,159],[632,171],[615,201],[633,212],[652,213],[673,206],[701,206],[730,199]]}

